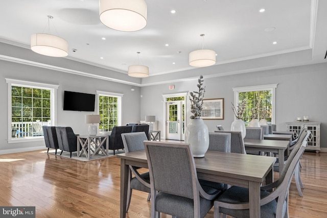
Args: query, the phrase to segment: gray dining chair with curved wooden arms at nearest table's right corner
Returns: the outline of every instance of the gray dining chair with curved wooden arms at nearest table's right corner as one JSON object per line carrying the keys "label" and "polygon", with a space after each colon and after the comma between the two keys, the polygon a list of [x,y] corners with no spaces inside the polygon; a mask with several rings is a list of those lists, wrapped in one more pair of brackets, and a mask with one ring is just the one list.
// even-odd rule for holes
{"label": "gray dining chair with curved wooden arms at nearest table's right corner", "polygon": [[[295,168],[307,146],[306,135],[302,143],[294,148],[294,153],[286,161],[279,179],[261,187],[261,217],[288,217],[288,195]],[[273,191],[269,192],[269,190]],[[221,213],[232,217],[250,217],[248,188],[232,186],[219,196],[214,203],[214,217],[221,217]]]}

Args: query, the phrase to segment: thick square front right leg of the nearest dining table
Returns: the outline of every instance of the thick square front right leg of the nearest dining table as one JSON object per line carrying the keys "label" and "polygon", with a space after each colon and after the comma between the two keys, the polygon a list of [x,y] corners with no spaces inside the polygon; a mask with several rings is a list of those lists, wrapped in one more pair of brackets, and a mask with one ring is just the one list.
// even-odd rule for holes
{"label": "thick square front right leg of the nearest dining table", "polygon": [[260,217],[260,183],[249,182],[250,217]]}

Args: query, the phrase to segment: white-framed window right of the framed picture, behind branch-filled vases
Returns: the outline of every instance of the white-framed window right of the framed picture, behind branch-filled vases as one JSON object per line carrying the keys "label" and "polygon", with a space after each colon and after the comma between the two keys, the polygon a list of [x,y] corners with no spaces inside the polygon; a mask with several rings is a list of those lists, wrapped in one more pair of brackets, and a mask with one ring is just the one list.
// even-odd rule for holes
{"label": "white-framed window right of the framed picture, behind branch-filled vases", "polygon": [[[234,91],[234,105],[242,103],[242,100],[247,99],[247,108],[252,108],[253,105],[258,103],[258,99],[261,101],[261,107],[264,108],[266,113],[269,114],[267,117],[269,123],[275,124],[275,102],[276,102],[276,88],[278,84],[267,84],[267,85],[257,85],[257,86],[244,86],[233,88]],[[260,95],[260,96],[259,96]],[[244,119],[250,118],[249,111],[245,112]],[[248,117],[247,117],[248,116]],[[247,120],[245,120],[247,122]]]}

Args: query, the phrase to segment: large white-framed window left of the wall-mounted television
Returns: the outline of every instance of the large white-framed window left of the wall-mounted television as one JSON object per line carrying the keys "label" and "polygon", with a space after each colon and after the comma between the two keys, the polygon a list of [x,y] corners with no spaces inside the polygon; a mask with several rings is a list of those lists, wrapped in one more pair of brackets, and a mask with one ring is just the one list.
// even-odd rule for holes
{"label": "large white-framed window left of the wall-mounted television", "polygon": [[43,140],[42,126],[56,125],[59,85],[6,78],[8,143]]}

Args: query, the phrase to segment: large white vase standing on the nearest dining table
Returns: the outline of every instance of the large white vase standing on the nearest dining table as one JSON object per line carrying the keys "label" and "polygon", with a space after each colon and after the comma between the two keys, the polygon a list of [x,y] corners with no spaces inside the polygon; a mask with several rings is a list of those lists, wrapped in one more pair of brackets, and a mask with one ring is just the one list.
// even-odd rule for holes
{"label": "large white vase standing on the nearest dining table", "polygon": [[193,157],[204,157],[209,148],[209,131],[203,119],[191,119],[185,130],[185,143],[190,143]]}

